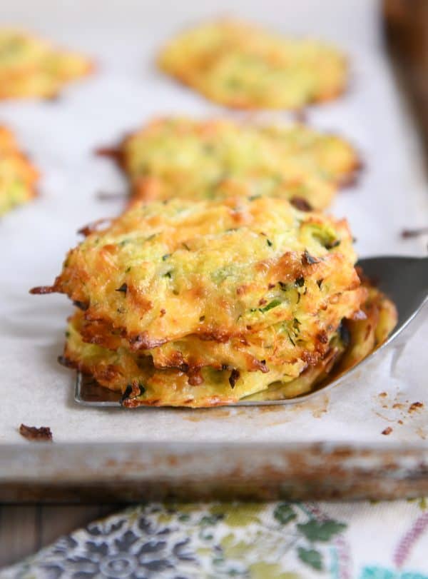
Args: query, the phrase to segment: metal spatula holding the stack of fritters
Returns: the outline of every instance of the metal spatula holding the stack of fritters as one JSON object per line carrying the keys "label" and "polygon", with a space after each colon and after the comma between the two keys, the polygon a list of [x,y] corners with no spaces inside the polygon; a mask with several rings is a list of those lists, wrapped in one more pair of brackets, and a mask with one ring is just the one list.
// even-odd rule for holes
{"label": "metal spatula holding the stack of fritters", "polygon": [[[370,278],[380,290],[394,301],[395,306],[397,306],[397,326],[387,341],[349,371],[343,373],[336,379],[332,378],[332,381],[318,388],[316,391],[295,398],[257,402],[244,400],[228,406],[268,406],[305,401],[308,398],[317,396],[320,392],[324,392],[327,388],[330,389],[334,386],[339,386],[345,379],[352,376],[357,369],[361,370],[362,366],[373,356],[378,356],[380,351],[384,351],[384,349],[393,342],[395,344],[398,343],[396,339],[397,336],[402,334],[404,328],[409,326],[428,301],[428,257],[371,257],[361,259],[357,265],[362,268],[365,276]],[[425,317],[424,315],[419,316],[418,320],[424,321]],[[402,335],[404,336],[404,334]],[[98,386],[93,380],[89,380],[81,373],[78,373],[77,376],[74,398],[76,402],[84,406],[121,406],[121,393],[109,391],[107,388],[101,388],[101,386]],[[153,408],[153,406],[143,408]]]}

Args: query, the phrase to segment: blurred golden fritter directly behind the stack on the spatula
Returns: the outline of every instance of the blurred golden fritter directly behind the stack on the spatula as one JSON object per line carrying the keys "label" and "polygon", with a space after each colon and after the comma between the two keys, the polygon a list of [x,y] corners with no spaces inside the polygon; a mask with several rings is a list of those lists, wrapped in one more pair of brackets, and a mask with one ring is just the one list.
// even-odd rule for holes
{"label": "blurred golden fritter directly behind the stack on the spatula", "polygon": [[338,136],[300,124],[225,119],[156,119],[117,153],[133,199],[144,201],[279,196],[324,209],[360,166],[355,149]]}

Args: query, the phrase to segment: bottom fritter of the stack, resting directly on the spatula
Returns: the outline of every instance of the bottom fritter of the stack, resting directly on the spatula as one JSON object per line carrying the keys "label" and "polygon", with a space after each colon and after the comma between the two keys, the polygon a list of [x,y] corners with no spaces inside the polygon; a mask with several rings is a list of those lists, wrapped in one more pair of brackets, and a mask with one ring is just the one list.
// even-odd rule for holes
{"label": "bottom fritter of the stack, resting directly on the spatula", "polygon": [[[332,334],[325,355],[310,365],[300,361],[293,378],[277,366],[267,373],[204,368],[201,381],[192,383],[178,369],[158,370],[151,358],[124,348],[111,351],[81,338],[83,314],[75,313],[68,325],[64,358],[101,385],[123,393],[123,404],[135,406],[218,406],[247,401],[275,401],[313,391],[330,376],[349,370],[380,346],[397,323],[394,305],[381,292],[369,288],[362,305],[365,319],[347,320]],[[344,326],[345,324],[345,326]]]}

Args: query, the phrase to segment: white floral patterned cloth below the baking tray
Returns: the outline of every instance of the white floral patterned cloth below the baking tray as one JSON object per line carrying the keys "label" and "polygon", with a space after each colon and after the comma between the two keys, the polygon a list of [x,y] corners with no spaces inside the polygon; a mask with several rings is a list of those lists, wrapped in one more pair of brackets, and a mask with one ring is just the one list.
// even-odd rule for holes
{"label": "white floral patterned cloth below the baking tray", "polygon": [[1,579],[428,579],[425,501],[140,505]]}

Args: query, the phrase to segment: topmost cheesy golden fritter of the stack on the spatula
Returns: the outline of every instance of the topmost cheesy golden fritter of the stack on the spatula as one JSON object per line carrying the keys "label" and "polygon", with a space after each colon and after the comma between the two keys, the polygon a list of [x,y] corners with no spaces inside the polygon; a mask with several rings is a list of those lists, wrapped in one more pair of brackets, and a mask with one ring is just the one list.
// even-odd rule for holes
{"label": "topmost cheesy golden fritter of the stack on the spatula", "polygon": [[139,203],[71,250],[51,289],[133,350],[189,334],[243,340],[295,319],[315,342],[342,293],[354,292],[349,315],[360,306],[355,260],[346,221],[280,198]]}

